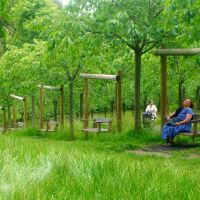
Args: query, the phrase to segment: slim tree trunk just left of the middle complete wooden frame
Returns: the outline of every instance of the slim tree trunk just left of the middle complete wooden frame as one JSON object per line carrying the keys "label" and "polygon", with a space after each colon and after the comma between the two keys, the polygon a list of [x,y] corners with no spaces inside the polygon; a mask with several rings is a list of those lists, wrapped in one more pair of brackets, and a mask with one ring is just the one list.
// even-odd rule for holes
{"label": "slim tree trunk just left of the middle complete wooden frame", "polygon": [[70,123],[70,139],[74,139],[74,83],[69,82],[69,123]]}

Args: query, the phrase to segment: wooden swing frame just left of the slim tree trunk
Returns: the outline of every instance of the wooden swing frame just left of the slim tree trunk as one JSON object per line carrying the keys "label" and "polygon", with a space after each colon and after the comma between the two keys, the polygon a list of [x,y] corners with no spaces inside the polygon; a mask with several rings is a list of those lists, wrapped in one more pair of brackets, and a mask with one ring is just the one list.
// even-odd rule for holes
{"label": "wooden swing frame just left of the slim tree trunk", "polygon": [[61,124],[61,127],[63,127],[64,126],[64,85],[61,85],[60,87],[37,85],[37,87],[40,89],[40,98],[39,98],[40,129],[44,129],[44,89],[60,91],[60,124]]}

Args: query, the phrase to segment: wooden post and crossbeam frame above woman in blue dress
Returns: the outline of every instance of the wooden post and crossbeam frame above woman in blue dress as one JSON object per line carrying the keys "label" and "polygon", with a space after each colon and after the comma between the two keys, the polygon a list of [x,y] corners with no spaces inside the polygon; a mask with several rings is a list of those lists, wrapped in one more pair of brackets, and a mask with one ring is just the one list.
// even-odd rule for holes
{"label": "wooden post and crossbeam frame above woman in blue dress", "polygon": [[160,56],[160,115],[161,127],[165,123],[167,114],[167,56],[194,56],[200,54],[200,48],[192,49],[157,49],[154,55]]}

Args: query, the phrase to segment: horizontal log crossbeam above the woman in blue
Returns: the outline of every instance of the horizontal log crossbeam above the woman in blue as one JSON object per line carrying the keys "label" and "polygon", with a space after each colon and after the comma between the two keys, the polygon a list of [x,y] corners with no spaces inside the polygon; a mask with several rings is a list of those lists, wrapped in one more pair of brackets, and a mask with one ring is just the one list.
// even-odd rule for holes
{"label": "horizontal log crossbeam above the woman in blue", "polygon": [[193,56],[200,54],[200,48],[191,49],[156,49],[153,51],[154,55],[165,56]]}

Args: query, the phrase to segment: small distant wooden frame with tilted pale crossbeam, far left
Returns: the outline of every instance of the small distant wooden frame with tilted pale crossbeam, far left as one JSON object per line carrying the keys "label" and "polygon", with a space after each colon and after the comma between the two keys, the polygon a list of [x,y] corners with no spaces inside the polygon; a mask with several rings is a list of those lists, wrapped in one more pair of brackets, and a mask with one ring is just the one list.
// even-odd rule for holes
{"label": "small distant wooden frame with tilted pale crossbeam, far left", "polygon": [[[15,100],[23,101],[24,102],[24,126],[27,125],[27,98],[26,96],[20,97],[15,94],[11,94],[10,97]],[[16,106],[13,104],[13,126],[17,128],[17,119],[16,119]]]}

